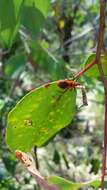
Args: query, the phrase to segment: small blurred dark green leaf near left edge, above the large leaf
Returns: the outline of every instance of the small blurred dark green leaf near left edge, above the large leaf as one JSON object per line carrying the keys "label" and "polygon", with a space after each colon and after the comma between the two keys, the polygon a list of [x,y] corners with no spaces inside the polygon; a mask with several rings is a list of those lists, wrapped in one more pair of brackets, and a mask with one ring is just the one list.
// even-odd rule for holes
{"label": "small blurred dark green leaf near left edge, above the large leaf", "polygon": [[16,55],[11,56],[5,64],[5,74],[16,77],[26,64],[26,55],[25,53],[17,53]]}

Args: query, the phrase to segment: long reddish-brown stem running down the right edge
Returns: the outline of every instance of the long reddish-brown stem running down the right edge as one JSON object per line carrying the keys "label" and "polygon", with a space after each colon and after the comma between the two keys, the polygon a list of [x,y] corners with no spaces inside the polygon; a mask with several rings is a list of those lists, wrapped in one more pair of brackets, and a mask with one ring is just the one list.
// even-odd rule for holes
{"label": "long reddish-brown stem running down the right edge", "polygon": [[106,16],[106,0],[100,0],[100,27],[98,35],[98,45],[96,53],[96,62],[100,72],[100,76],[105,90],[105,125],[104,125],[104,153],[102,161],[102,182],[101,190],[104,190],[104,177],[106,175],[106,156],[107,156],[107,79],[104,76],[102,64],[100,62],[101,51],[104,48],[104,33],[105,33],[105,16]]}

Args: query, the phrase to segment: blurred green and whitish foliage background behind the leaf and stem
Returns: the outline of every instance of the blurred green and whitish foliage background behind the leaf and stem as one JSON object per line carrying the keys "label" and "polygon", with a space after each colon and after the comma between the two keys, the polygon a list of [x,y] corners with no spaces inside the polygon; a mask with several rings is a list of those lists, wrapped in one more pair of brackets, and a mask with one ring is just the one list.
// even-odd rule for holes
{"label": "blurred green and whitish foliage background behind the leaf and stem", "polygon": [[[7,115],[35,87],[73,77],[83,67],[96,51],[98,23],[95,0],[0,0],[1,190],[40,190],[5,143]],[[78,90],[73,121],[46,146],[36,153],[32,150],[44,176],[86,182],[101,174],[103,88],[92,73],[80,79],[87,89],[88,107],[79,109]]]}

